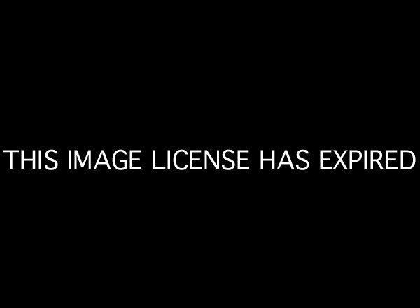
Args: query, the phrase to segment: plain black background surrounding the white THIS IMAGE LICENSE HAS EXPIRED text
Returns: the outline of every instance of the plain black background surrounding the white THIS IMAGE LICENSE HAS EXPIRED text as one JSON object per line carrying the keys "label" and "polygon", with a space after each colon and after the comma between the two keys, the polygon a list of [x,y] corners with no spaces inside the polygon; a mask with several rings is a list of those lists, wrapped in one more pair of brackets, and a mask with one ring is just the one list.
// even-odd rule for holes
{"label": "plain black background surrounding the white THIS IMAGE LICENSE HAS EXPIRED text", "polygon": [[[418,155],[414,20],[174,9],[20,8],[2,38],[1,149],[249,148],[253,170],[3,168],[8,289],[118,302],[409,293],[418,167],[320,172],[317,153]],[[260,149],[300,148],[308,172],[258,172]]]}

